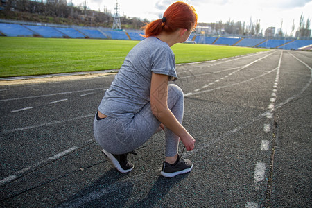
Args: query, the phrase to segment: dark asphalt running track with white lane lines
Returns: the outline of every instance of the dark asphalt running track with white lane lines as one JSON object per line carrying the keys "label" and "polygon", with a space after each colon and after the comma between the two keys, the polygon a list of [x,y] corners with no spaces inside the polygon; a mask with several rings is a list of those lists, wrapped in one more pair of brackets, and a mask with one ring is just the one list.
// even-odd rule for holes
{"label": "dark asphalt running track with white lane lines", "polygon": [[[117,173],[94,141],[114,76],[0,87],[1,207],[310,207],[312,54],[177,66],[194,168],[159,176],[164,134]],[[182,144],[180,146],[182,149]]]}

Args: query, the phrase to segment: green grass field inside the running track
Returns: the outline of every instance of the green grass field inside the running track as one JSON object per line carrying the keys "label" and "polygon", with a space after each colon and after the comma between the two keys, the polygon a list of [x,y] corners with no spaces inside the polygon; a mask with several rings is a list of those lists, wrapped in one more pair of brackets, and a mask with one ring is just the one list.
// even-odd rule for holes
{"label": "green grass field inside the running track", "polygon": [[[133,40],[0,37],[0,77],[119,69]],[[175,44],[177,64],[266,51],[233,46]]]}

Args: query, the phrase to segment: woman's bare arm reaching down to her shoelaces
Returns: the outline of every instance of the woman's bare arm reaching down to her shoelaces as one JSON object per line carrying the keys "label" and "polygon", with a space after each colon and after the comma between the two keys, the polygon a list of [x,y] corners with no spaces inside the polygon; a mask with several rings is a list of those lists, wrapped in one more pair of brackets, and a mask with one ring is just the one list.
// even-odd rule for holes
{"label": "woman's bare arm reaching down to her shoelaces", "polygon": [[152,74],[150,83],[150,107],[153,115],[180,137],[187,150],[193,150],[195,139],[185,130],[168,108],[168,76],[164,74]]}

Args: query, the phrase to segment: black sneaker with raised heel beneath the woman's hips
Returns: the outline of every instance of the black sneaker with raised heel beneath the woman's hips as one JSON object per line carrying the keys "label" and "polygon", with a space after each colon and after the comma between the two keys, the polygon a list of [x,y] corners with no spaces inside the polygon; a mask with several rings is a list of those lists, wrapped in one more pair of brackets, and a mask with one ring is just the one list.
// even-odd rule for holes
{"label": "black sneaker with raised heel beneath the woman's hips", "polygon": [[[102,152],[104,153],[105,156],[107,156],[110,159],[112,164],[115,166],[115,168],[119,172],[121,172],[121,173],[128,173],[128,172],[132,171],[134,166],[133,166],[133,164],[128,162],[128,159],[127,159],[127,155],[129,153],[125,153],[125,154],[122,154],[122,155],[114,155],[112,153],[108,153],[104,149],[102,150]],[[131,154],[135,154],[136,155],[137,153],[131,152]]]}

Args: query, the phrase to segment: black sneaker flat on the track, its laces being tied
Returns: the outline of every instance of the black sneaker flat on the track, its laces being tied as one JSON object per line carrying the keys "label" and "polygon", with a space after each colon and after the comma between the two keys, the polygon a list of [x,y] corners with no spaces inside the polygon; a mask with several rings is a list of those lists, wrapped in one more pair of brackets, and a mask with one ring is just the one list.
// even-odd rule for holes
{"label": "black sneaker flat on the track, its laces being tied", "polygon": [[189,173],[193,168],[193,164],[189,159],[182,159],[177,155],[177,161],[174,164],[164,162],[160,174],[164,177],[175,177],[183,173]]}

